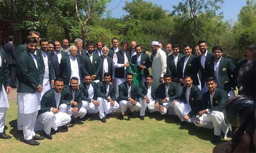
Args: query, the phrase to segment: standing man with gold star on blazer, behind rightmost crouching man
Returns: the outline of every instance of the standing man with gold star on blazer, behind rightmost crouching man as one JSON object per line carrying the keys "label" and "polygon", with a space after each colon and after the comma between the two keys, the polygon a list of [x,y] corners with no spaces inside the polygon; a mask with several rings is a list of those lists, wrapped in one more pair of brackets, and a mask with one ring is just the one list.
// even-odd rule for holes
{"label": "standing man with gold star on blazer, behind rightmost crouching man", "polygon": [[228,93],[228,99],[236,96],[234,89],[236,89],[236,76],[233,61],[231,59],[222,57],[222,47],[212,47],[214,62],[211,64],[212,75],[217,81],[217,88],[225,90]]}

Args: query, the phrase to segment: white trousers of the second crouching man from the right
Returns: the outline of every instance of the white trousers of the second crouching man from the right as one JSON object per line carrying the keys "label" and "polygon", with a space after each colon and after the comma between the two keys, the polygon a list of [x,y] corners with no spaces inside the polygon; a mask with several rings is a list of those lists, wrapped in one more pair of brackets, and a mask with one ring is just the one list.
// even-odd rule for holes
{"label": "white trousers of the second crouching man from the right", "polygon": [[[191,107],[189,106],[189,104],[188,103],[185,104],[185,103],[183,103],[181,101],[176,102],[173,105],[173,108],[174,108],[175,114],[179,116],[181,121],[184,121],[183,117],[185,115],[188,115],[188,113],[191,111]],[[196,118],[195,115],[193,115],[193,117],[190,117],[187,120],[187,122],[188,123],[193,123],[195,118]]]}

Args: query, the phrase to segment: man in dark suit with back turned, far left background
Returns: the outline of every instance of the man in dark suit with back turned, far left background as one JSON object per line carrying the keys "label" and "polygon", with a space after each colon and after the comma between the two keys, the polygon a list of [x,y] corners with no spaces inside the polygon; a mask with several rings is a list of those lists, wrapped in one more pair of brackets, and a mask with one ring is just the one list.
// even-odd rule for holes
{"label": "man in dark suit with back turned, far left background", "polygon": [[8,43],[4,45],[3,49],[7,55],[7,62],[10,69],[10,75],[11,75],[11,84],[10,86],[12,88],[17,88],[17,85],[15,84],[16,81],[16,65],[15,65],[15,50],[16,47],[13,45],[14,38],[13,36],[8,36]]}

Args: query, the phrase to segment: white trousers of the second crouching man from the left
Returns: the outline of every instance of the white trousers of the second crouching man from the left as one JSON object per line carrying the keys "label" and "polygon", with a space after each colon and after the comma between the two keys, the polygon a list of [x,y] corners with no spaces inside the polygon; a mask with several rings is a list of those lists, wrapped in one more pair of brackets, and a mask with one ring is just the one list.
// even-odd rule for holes
{"label": "white trousers of the second crouching man from the left", "polygon": [[70,105],[67,104],[61,104],[59,106],[59,111],[62,113],[67,113],[69,116],[74,115],[75,118],[79,117],[82,118],[87,113],[86,109],[81,107],[76,113],[72,112],[73,108]]}

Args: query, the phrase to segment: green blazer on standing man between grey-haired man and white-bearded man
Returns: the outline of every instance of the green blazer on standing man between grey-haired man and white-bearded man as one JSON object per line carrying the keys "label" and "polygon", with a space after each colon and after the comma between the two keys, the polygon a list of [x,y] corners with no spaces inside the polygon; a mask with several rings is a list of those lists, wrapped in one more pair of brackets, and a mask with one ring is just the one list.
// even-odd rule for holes
{"label": "green blazer on standing man between grey-haired man and white-bearded man", "polygon": [[90,57],[86,53],[81,57],[81,69],[83,72],[83,76],[85,74],[96,75],[95,80],[100,80],[100,68],[101,68],[101,60],[98,54],[92,53],[92,63]]}

